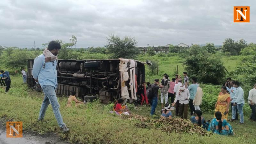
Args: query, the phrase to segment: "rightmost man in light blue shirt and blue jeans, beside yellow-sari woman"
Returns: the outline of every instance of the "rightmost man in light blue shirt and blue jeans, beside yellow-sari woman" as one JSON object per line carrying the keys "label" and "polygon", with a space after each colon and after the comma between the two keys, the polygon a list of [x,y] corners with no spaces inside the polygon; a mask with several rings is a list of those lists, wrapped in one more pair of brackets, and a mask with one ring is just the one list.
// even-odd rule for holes
{"label": "rightmost man in light blue shirt and blue jeans, beside yellow-sari woman", "polygon": [[243,113],[243,106],[244,106],[244,90],[240,87],[240,83],[238,81],[234,82],[234,87],[236,88],[235,94],[235,103],[232,106],[232,119],[236,118],[236,108],[240,115],[240,124],[244,124],[244,113]]}

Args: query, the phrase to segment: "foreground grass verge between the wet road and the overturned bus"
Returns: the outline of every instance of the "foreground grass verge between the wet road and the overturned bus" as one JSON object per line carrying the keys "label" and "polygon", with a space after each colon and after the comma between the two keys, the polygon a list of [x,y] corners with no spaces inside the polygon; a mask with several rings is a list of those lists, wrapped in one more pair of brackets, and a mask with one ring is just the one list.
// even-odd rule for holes
{"label": "foreground grass verge between the wet road and the overturned bus", "polygon": [[[60,112],[64,122],[70,128],[69,133],[62,133],[57,125],[49,106],[45,121],[36,122],[43,100],[42,92],[35,92],[22,84],[21,76],[12,76],[12,86],[8,94],[0,88],[0,117],[5,121],[22,121],[25,131],[34,131],[40,134],[58,133],[60,137],[71,143],[254,143],[255,122],[248,120],[245,115],[245,124],[231,123],[234,136],[212,135],[210,137],[196,134],[166,133],[156,129],[142,129],[134,125],[134,121],[120,119],[110,114],[111,105],[103,105],[99,101],[87,103],[79,108],[67,108],[67,98],[59,97]],[[138,108],[138,109],[137,109]],[[148,106],[138,106],[132,110],[133,114],[149,116]],[[156,109],[156,119],[160,115],[160,106]],[[204,113],[206,119],[213,117],[211,113]],[[230,116],[230,114],[229,114]]]}

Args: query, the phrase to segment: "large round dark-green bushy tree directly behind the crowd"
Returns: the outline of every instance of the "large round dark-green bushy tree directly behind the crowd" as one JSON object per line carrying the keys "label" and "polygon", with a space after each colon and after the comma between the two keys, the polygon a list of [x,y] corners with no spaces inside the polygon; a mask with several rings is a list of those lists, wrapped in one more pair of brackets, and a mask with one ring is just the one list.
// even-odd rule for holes
{"label": "large round dark-green bushy tree directly behind the crowd", "polygon": [[197,44],[188,50],[184,65],[188,75],[197,77],[198,82],[220,84],[226,75],[223,62]]}

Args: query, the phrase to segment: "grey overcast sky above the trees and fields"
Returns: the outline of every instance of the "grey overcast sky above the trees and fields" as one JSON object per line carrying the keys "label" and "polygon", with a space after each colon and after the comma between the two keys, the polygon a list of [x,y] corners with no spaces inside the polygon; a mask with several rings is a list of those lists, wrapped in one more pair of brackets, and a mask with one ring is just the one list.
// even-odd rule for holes
{"label": "grey overcast sky above the trees and fields", "polygon": [[[250,6],[250,23],[234,23],[233,6]],[[74,35],[76,47],[103,47],[111,34],[138,46],[256,43],[255,14],[255,0],[1,0],[0,45],[41,48]]]}

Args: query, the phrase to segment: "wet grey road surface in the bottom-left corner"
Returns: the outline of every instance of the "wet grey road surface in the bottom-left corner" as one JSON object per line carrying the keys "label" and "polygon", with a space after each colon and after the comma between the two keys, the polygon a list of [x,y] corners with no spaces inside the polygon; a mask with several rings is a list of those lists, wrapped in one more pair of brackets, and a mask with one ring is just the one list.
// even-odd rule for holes
{"label": "wet grey road surface in the bottom-left corner", "polygon": [[6,138],[6,123],[0,122],[0,144],[70,144],[57,134],[39,135],[36,132],[24,132],[23,138]]}

